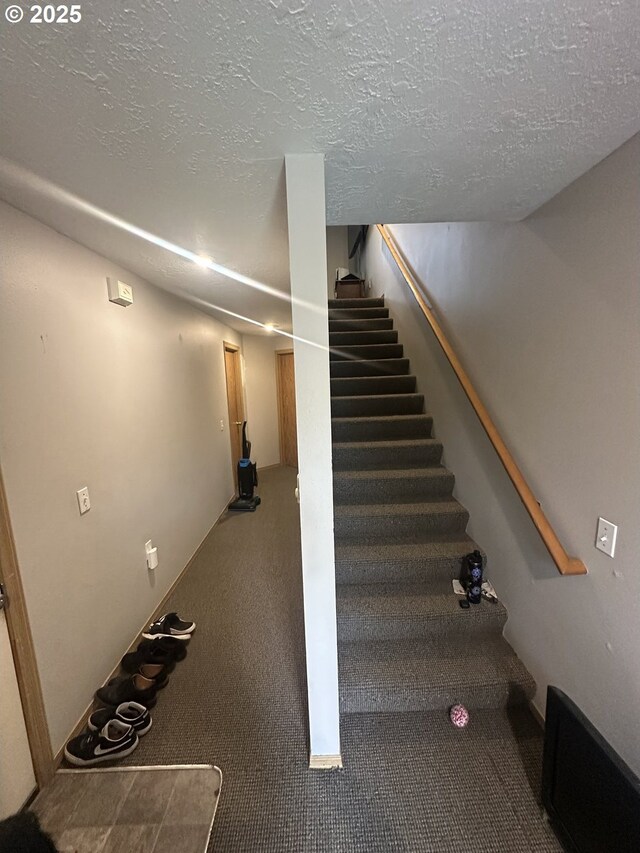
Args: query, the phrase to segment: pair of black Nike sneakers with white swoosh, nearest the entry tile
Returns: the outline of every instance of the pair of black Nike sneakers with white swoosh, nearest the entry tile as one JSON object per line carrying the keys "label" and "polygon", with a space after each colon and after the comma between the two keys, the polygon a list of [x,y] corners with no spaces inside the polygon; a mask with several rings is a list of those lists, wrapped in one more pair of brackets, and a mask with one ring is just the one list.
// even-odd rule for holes
{"label": "pair of black Nike sneakers with white swoosh, nearest the entry tile", "polygon": [[101,708],[89,717],[89,730],[72,738],[65,746],[64,756],[69,764],[76,767],[90,767],[124,758],[136,749],[151,724],[149,711],[137,702],[123,702],[117,708]]}

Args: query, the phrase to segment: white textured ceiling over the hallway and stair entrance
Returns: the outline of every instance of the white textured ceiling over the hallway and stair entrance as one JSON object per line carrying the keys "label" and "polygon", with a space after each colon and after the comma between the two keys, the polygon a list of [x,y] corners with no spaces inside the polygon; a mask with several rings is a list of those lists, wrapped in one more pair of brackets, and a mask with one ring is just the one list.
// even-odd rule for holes
{"label": "white textured ceiling over the hallway and stair entrance", "polygon": [[[0,154],[283,291],[287,152],[325,153],[329,224],[518,219],[640,129],[638,0],[93,0],[82,14],[2,22]],[[11,203],[154,283],[286,323],[285,303],[2,174]]]}

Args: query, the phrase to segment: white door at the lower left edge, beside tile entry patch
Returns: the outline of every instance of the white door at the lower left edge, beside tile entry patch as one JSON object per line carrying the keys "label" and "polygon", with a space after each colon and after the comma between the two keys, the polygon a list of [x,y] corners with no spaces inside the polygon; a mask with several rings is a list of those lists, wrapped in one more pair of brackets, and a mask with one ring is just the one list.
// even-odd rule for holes
{"label": "white door at the lower left edge, beside tile entry patch", "polygon": [[0,679],[1,820],[17,812],[36,787],[7,620],[3,611],[0,611]]}

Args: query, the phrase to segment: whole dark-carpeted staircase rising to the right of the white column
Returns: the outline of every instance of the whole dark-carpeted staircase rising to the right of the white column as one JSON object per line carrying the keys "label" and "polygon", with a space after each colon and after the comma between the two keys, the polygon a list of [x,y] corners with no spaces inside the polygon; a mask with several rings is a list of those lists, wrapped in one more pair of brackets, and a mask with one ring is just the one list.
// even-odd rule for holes
{"label": "whole dark-carpeted staircase rising to the right of the white column", "polygon": [[330,300],[329,342],[341,711],[527,701],[502,604],[452,592],[477,546],[384,300]]}

